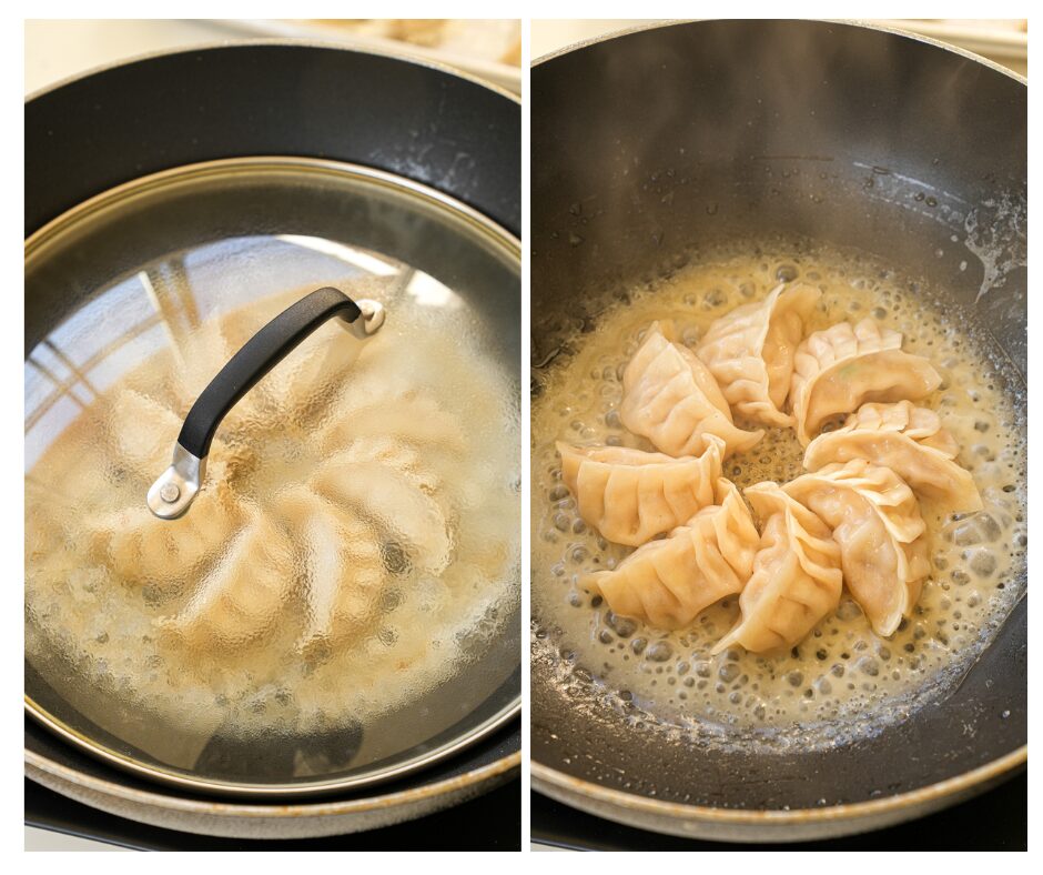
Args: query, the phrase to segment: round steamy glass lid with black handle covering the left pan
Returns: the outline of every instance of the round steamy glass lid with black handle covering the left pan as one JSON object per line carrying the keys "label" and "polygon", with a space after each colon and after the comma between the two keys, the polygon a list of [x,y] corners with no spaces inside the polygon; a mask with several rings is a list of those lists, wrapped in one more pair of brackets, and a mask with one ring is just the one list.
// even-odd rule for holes
{"label": "round steamy glass lid with black handle covering the left pan", "polygon": [[168,171],[34,234],[29,712],[260,795],[516,714],[519,278],[468,208],[311,159]]}

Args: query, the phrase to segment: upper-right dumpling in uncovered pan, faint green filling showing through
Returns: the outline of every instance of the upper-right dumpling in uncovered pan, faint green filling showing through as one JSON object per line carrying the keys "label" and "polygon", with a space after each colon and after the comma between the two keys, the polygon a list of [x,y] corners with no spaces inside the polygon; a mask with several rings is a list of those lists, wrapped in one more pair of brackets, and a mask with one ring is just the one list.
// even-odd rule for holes
{"label": "upper-right dumpling in uncovered pan, faint green filling showing through", "polygon": [[902,335],[873,319],[839,322],[811,334],[793,360],[790,403],[804,446],[822,423],[867,401],[917,400],[941,384],[931,363],[902,352]]}

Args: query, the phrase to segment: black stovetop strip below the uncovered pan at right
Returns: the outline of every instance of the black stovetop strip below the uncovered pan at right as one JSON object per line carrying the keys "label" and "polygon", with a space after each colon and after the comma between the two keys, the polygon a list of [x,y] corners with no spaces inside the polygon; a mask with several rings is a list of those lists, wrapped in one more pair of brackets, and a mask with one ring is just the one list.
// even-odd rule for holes
{"label": "black stovetop strip below the uncovered pan at right", "polygon": [[799,844],[739,845],[648,833],[531,795],[533,842],[574,851],[1025,851],[1029,776],[968,802],[873,833]]}

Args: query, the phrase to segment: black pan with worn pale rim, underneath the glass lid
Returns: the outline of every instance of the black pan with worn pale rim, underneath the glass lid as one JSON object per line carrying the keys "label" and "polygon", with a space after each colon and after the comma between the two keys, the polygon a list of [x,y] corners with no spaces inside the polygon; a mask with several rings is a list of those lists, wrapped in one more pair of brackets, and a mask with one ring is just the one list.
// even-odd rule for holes
{"label": "black pan with worn pale rim, underneath the glass lid", "polygon": [[[30,99],[26,235],[130,180],[250,155],[318,158],[385,171],[462,201],[520,235],[517,99],[437,67],[274,43],[155,56]],[[294,207],[284,204],[282,219],[306,231],[306,218],[295,215]],[[166,235],[168,247],[174,239],[191,242],[193,233],[191,228],[155,230]],[[382,233],[374,227],[365,239],[379,248]],[[445,257],[444,250],[434,251],[437,245],[417,234],[413,263],[423,268]],[[454,279],[466,290],[474,278]],[[55,285],[50,293],[27,295],[27,351],[90,293],[84,283],[75,293]],[[497,300],[479,304],[504,329],[498,336],[505,358],[517,361],[516,291],[505,285]],[[517,691],[520,667],[507,683]],[[28,771],[59,792],[150,823],[264,837],[353,832],[419,816],[516,774],[519,747],[514,721],[450,761],[379,793],[356,792],[311,806],[216,805],[150,786],[26,722]]]}

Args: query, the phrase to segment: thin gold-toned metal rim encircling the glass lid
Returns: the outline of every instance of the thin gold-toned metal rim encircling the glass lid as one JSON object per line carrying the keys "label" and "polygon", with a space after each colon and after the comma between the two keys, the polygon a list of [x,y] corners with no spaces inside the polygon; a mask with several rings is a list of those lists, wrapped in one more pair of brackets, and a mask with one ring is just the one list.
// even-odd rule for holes
{"label": "thin gold-toned metal rim encircling the glass lid", "polygon": [[[519,271],[523,266],[522,241],[490,217],[463,203],[453,195],[407,177],[401,177],[364,164],[305,155],[237,155],[182,164],[154,173],[146,173],[107,189],[75,204],[37,229],[24,240],[26,258],[29,258],[38,249],[45,247],[51,239],[60,234],[69,224],[82,221],[84,218],[89,219],[92,214],[102,212],[109,209],[113,203],[119,203],[128,198],[140,197],[158,188],[163,188],[171,183],[176,184],[186,179],[195,180],[201,177],[220,175],[229,172],[261,173],[265,171],[279,172],[281,170],[347,174],[354,179],[361,180],[365,184],[378,189],[404,192],[428,208],[447,212],[453,215],[454,219],[463,221],[468,231],[476,234],[486,245],[496,248],[502,255],[506,255],[512,261],[517,260]],[[523,605],[519,604],[519,613],[522,609]],[[518,663],[514,671],[520,671],[520,665],[522,656],[519,651]],[[508,683],[510,677],[508,676],[505,683]],[[132,756],[121,754],[104,744],[89,738],[69,726],[64,721],[51,714],[28,693],[23,694],[23,712],[55,737],[84,751],[95,760],[105,762],[130,774],[143,776],[159,784],[178,787],[180,789],[194,789],[196,792],[224,795],[230,798],[304,797],[373,786],[414,774],[435,763],[444,762],[474,743],[488,737],[497,728],[517,717],[522,713],[522,688],[519,684],[516,695],[509,698],[499,710],[469,728],[466,733],[431,751],[414,753],[414,755],[403,760],[391,768],[384,768],[377,772],[363,771],[354,776],[298,784],[252,784],[249,782],[227,782],[179,774],[172,768],[136,761]],[[27,751],[26,753],[28,755],[30,752]]]}

